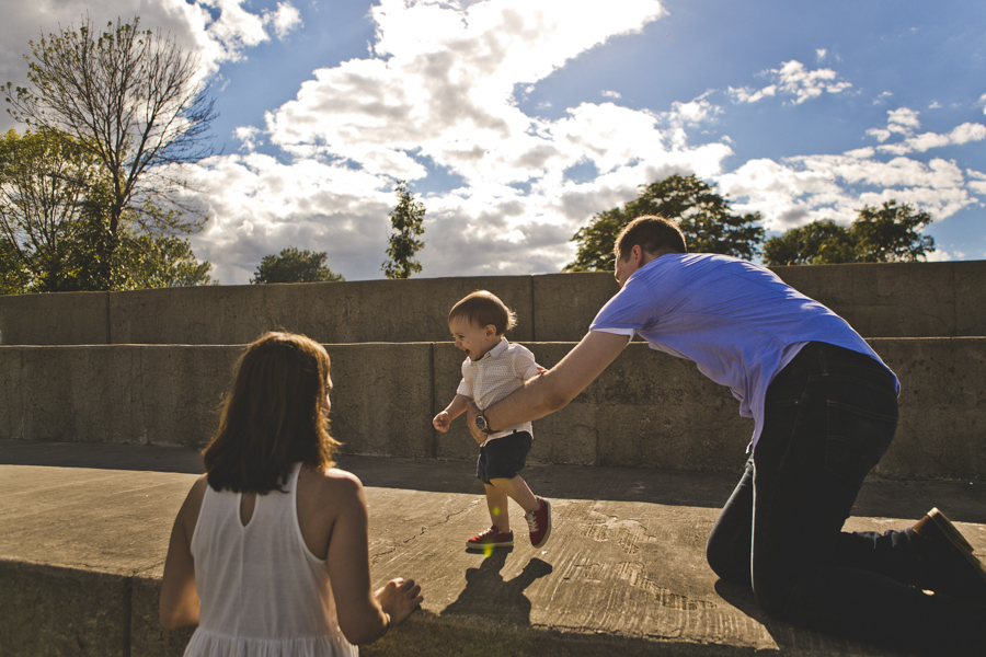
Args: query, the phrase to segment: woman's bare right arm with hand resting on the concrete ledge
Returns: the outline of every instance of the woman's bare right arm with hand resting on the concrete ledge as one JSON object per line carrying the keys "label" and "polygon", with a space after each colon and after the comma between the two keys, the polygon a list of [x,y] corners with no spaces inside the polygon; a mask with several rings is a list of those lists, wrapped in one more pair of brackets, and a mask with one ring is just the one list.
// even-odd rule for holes
{"label": "woman's bare right arm with hand resting on the concrete ledge", "polygon": [[[336,471],[342,472],[342,471]],[[412,579],[393,579],[376,593],[370,589],[369,518],[363,484],[354,475],[333,482],[335,521],[326,567],[335,597],[339,626],[353,644],[376,641],[408,618],[423,600]]]}

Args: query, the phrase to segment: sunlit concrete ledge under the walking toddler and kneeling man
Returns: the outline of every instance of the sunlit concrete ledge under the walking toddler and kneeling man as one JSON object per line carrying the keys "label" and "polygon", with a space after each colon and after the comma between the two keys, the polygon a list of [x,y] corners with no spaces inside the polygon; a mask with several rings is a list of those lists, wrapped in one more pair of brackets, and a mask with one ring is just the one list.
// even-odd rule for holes
{"label": "sunlit concrete ledge under the walking toddler and kneeling man", "polygon": [[[530,466],[552,500],[548,544],[469,553],[486,527],[472,463],[345,457],[367,487],[377,585],[424,587],[423,609],[364,655],[894,655],[764,616],[718,581],[703,546],[735,477]],[[171,523],[200,472],[174,447],[0,441],[0,655],[181,655],[157,626]],[[869,482],[850,529],[944,510],[986,557],[986,486]],[[25,631],[30,629],[30,631]]]}

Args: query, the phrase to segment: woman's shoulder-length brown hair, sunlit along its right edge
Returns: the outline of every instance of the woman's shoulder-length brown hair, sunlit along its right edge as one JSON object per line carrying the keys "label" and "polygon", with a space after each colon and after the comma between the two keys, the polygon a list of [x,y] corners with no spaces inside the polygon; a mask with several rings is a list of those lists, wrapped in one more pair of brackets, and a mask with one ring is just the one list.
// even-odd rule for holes
{"label": "woman's shoulder-length brown hair, sunlit along its right edge", "polygon": [[213,488],[264,494],[282,489],[299,461],[334,465],[340,442],[323,413],[329,365],[321,345],[294,333],[266,333],[246,347],[203,450]]}

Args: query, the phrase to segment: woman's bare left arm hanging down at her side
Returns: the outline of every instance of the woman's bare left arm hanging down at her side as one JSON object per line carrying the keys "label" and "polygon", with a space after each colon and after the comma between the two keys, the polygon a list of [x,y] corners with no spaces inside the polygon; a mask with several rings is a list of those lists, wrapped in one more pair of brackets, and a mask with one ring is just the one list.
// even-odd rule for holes
{"label": "woman's bare left arm hanging down at her side", "polygon": [[168,557],[164,560],[164,578],[158,615],[164,630],[198,624],[198,592],[195,590],[195,562],[192,558],[192,534],[202,509],[202,498],[208,486],[202,475],[192,486],[174,519]]}

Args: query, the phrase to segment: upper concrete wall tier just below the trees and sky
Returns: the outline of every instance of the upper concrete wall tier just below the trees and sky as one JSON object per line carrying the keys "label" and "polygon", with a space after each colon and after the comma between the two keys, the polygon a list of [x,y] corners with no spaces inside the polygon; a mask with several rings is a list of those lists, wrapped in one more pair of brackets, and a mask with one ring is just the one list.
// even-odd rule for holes
{"label": "upper concrete wall tier just below the trees and sky", "polygon": [[[986,335],[986,261],[777,267],[865,337]],[[0,297],[0,344],[252,342],[272,328],[322,343],[440,342],[457,300],[498,295],[518,342],[573,342],[616,292],[608,273],[218,286]]]}

